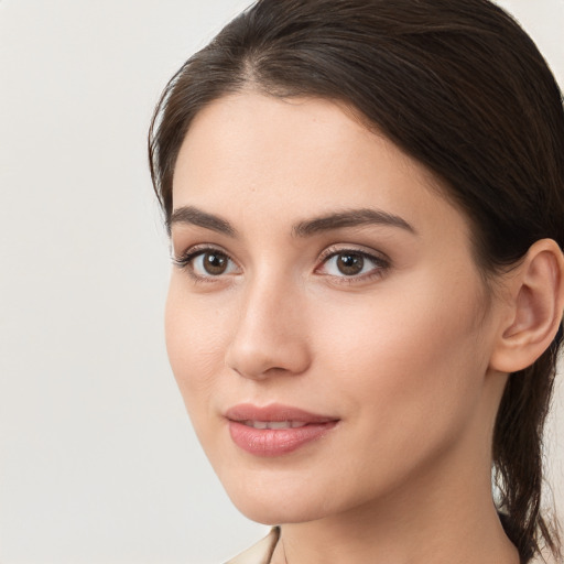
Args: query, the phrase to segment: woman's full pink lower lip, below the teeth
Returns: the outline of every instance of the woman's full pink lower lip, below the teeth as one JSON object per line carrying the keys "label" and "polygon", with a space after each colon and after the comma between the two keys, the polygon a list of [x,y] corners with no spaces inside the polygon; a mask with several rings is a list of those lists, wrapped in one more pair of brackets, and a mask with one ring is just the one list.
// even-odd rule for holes
{"label": "woman's full pink lower lip, below the teeth", "polygon": [[335,427],[337,421],[310,423],[295,429],[254,429],[229,421],[234,443],[256,456],[281,456],[317,441]]}

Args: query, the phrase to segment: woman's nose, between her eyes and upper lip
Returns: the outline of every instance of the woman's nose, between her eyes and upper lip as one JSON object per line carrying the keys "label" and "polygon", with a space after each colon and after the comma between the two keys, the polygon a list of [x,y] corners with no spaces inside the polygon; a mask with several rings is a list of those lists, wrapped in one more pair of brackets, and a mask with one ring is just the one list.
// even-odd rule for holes
{"label": "woman's nose, between her eyes and upper lip", "polygon": [[280,280],[259,280],[245,294],[226,365],[256,380],[307,370],[307,319],[300,292]]}

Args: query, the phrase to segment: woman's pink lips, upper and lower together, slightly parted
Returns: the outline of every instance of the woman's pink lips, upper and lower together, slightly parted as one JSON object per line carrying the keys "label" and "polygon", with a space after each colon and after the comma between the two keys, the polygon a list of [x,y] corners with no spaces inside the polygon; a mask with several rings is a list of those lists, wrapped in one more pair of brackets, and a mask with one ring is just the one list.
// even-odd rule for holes
{"label": "woman's pink lips, upper and lower together, slightly parted", "polygon": [[[338,419],[311,413],[299,408],[272,403],[258,406],[242,403],[225,413],[234,443],[256,456],[282,456],[290,454],[333,430]],[[283,429],[256,429],[253,422],[299,423],[300,426]]]}

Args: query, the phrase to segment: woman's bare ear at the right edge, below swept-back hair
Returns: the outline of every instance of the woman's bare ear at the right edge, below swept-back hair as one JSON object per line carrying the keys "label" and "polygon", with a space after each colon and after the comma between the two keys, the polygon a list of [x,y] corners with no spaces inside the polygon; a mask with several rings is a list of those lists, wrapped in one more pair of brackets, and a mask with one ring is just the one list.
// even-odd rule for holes
{"label": "woman's bare ear at the right edge, below swept-back hair", "polygon": [[551,345],[564,310],[564,257],[553,239],[536,241],[507,274],[508,303],[490,358],[490,368],[517,372]]}

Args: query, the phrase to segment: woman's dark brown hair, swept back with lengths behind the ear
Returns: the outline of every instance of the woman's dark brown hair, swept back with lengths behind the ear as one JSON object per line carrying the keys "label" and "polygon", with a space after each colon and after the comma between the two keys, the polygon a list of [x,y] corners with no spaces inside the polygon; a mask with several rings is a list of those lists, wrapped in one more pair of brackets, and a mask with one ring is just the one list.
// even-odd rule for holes
{"label": "woman's dark brown hair, swept back with lengths behind the ear", "polygon": [[[259,0],[188,59],[153,118],[153,184],[169,223],[180,147],[198,111],[242,89],[345,102],[447,187],[473,225],[486,278],[542,238],[564,247],[564,112],[532,40],[488,0]],[[521,562],[545,544],[542,433],[557,341],[512,375],[494,476]]]}

